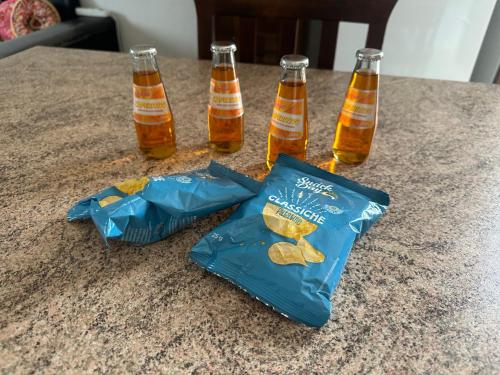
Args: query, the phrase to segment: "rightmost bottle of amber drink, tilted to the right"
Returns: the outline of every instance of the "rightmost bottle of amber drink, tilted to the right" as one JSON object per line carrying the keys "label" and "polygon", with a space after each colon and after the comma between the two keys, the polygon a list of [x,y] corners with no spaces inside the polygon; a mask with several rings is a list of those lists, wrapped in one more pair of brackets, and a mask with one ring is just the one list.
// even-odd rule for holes
{"label": "rightmost bottle of amber drink, tilted to the right", "polygon": [[378,120],[378,82],[382,51],[363,48],[356,52],[356,66],[337,120],[333,141],[336,160],[358,165],[370,153]]}

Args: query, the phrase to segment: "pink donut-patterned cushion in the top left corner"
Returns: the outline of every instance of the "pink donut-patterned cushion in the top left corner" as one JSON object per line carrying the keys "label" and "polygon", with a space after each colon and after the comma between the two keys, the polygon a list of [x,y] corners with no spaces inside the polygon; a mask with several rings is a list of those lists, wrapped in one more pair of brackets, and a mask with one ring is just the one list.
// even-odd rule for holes
{"label": "pink donut-patterned cushion in the top left corner", "polygon": [[7,0],[0,4],[0,40],[14,39],[61,20],[47,0]]}

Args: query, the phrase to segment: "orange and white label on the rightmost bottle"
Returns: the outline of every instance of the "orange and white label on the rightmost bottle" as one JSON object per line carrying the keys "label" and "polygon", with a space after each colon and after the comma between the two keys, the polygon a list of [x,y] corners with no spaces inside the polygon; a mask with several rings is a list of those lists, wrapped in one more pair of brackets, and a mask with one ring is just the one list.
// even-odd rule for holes
{"label": "orange and white label on the rightmost bottle", "polygon": [[357,128],[372,128],[377,115],[377,90],[360,90],[350,87],[347,91],[339,121]]}

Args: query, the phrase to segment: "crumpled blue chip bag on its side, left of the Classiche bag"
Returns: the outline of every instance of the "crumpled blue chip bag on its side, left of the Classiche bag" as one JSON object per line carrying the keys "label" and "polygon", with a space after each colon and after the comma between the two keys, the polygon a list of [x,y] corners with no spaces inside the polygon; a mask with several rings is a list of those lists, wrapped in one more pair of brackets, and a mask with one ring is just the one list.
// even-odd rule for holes
{"label": "crumpled blue chip bag on its side, left of the Classiche bag", "polygon": [[76,203],[68,220],[92,219],[107,242],[159,241],[195,219],[253,197],[260,183],[214,161],[208,168],[129,179]]}

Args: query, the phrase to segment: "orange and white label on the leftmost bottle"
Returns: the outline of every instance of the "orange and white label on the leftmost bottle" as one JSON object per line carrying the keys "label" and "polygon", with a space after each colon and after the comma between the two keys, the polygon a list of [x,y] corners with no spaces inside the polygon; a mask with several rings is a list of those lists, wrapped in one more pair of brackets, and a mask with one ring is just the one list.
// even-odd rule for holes
{"label": "orange and white label on the leftmost bottle", "polygon": [[172,119],[163,84],[134,84],[134,121],[142,125],[162,125]]}

